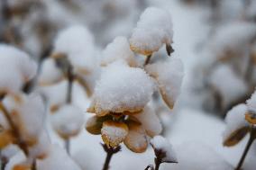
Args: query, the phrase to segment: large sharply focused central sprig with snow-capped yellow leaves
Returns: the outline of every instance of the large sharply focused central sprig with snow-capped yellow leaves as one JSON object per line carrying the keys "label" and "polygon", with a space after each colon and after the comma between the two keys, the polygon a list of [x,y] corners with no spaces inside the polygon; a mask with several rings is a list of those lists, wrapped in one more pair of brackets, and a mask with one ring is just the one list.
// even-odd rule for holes
{"label": "large sharply focused central sprig with snow-capped yellow leaves", "polygon": [[87,121],[86,129],[101,134],[107,153],[104,170],[108,169],[111,157],[120,151],[121,143],[135,153],[142,153],[148,147],[148,137],[160,134],[160,120],[149,104],[151,95],[159,90],[172,109],[178,98],[183,65],[177,58],[150,64],[149,57],[147,66],[142,67],[133,51],[150,56],[164,43],[169,51],[171,42],[169,13],[148,8],[133,31],[130,44],[125,37],[117,37],[103,51],[101,77],[87,109],[95,115]]}

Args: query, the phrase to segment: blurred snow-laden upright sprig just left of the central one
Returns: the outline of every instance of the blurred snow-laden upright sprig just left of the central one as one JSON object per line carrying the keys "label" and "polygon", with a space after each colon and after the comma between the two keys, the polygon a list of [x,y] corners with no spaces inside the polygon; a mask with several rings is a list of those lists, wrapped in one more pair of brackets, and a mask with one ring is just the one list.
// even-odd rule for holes
{"label": "blurred snow-laden upright sprig just left of the central one", "polygon": [[84,123],[82,111],[72,103],[73,86],[78,82],[87,95],[91,94],[85,76],[90,76],[94,70],[94,60],[91,59],[94,57],[93,51],[93,37],[90,32],[83,26],[72,26],[59,32],[50,58],[42,63],[39,76],[41,85],[66,82],[66,90],[61,91],[61,87],[55,89],[55,94],[61,98],[56,99],[52,94],[47,98],[52,112],[53,128],[65,140],[68,153],[69,139],[78,135]]}

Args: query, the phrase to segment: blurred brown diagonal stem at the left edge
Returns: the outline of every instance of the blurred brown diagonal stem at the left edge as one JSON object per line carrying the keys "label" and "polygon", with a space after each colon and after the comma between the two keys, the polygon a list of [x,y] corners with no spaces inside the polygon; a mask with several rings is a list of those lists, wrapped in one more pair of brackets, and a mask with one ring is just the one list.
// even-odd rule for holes
{"label": "blurred brown diagonal stem at the left edge", "polygon": [[19,146],[19,148],[21,148],[25,154],[25,156],[29,155],[29,149],[27,144],[23,141],[20,131],[18,130],[18,128],[16,127],[16,125],[14,124],[14,121],[12,120],[9,112],[7,111],[7,109],[5,108],[4,103],[0,102],[0,110],[4,113],[4,116],[6,118],[6,120],[8,121],[13,133],[14,133],[14,137],[17,139],[17,145]]}

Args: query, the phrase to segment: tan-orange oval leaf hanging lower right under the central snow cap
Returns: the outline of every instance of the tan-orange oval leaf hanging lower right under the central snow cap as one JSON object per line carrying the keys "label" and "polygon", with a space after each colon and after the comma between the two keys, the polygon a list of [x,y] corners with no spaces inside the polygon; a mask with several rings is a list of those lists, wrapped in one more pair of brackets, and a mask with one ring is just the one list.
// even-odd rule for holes
{"label": "tan-orange oval leaf hanging lower right under the central snow cap", "polygon": [[124,139],[125,146],[135,153],[145,152],[148,148],[148,140],[142,125],[135,121],[130,121],[128,127],[129,133]]}

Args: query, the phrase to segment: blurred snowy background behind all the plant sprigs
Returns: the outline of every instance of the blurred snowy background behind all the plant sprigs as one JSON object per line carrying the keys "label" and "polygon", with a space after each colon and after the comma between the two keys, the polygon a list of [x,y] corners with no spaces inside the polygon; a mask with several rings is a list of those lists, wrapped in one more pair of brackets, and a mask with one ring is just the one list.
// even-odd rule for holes
{"label": "blurred snowy background behind all the plant sprigs", "polygon": [[[130,37],[149,6],[171,13],[172,56],[181,58],[186,70],[175,109],[170,112],[165,105],[157,105],[164,135],[178,153],[184,142],[198,148],[206,145],[235,165],[247,139],[234,148],[224,148],[222,132],[226,112],[244,103],[256,85],[255,0],[1,0],[0,42],[25,50],[40,63],[50,55],[58,31],[83,24],[94,35],[100,58],[102,49],[116,36]],[[88,99],[78,93],[76,101],[86,111]],[[52,140],[61,142],[55,136]],[[105,156],[100,141],[86,130],[72,141],[72,155],[81,166],[101,168]],[[250,161],[256,157],[256,145],[253,147],[245,167],[256,164]],[[193,157],[194,151],[188,150],[187,155]],[[152,160],[152,150],[135,155],[123,148],[112,167],[143,169]]]}

